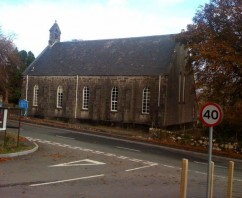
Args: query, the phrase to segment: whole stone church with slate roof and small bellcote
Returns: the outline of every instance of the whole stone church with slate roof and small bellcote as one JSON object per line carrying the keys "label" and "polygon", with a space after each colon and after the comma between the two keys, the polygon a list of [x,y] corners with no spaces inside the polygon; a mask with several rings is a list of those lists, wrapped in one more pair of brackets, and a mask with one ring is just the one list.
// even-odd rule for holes
{"label": "whole stone church with slate roof and small bellcote", "polygon": [[196,118],[193,75],[174,35],[49,44],[24,71],[28,115],[165,128]]}

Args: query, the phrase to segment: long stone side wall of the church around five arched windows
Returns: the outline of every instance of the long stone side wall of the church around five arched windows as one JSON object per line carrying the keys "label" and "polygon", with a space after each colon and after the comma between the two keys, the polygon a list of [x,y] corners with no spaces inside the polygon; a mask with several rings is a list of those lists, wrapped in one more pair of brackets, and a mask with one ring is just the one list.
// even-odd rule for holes
{"label": "long stone side wall of the church around five arched windows", "polygon": [[[28,87],[28,113],[31,116],[162,126],[165,83],[162,76],[25,76],[22,98],[26,98]],[[35,85],[39,87],[38,106],[33,106]],[[63,87],[62,108],[56,107],[59,85]],[[82,109],[85,86],[89,87],[88,110]],[[118,88],[117,112],[111,111],[111,90],[114,86]],[[151,93],[149,114],[142,114],[145,87],[149,87]]]}

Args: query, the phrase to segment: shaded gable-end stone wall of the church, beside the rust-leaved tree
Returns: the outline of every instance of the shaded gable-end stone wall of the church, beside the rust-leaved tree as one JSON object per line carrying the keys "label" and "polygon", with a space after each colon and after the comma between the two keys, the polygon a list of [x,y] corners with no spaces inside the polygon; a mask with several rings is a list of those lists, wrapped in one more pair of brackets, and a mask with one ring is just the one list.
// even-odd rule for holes
{"label": "shaded gable-end stone wall of the church, beside the rust-leaved tree", "polygon": [[[174,126],[195,122],[196,96],[193,74],[185,67],[186,51],[177,47],[173,65],[167,76],[167,101],[165,105],[165,126]],[[174,113],[175,112],[175,113]]]}

